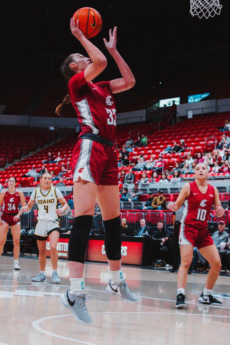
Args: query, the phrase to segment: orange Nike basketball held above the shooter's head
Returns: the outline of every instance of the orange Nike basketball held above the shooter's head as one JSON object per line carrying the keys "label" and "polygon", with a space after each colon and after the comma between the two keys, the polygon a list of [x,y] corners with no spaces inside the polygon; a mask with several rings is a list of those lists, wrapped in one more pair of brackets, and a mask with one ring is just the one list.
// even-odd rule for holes
{"label": "orange Nike basketball held above the shooter's head", "polygon": [[96,36],[102,27],[102,19],[98,11],[91,7],[82,7],[73,14],[75,25],[77,19],[79,21],[79,29],[83,32],[86,38]]}

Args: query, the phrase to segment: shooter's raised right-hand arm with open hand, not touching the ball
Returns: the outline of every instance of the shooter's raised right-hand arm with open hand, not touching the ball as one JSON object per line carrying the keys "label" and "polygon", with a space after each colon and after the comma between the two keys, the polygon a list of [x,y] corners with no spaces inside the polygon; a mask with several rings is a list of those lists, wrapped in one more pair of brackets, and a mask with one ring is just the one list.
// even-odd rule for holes
{"label": "shooter's raised right-hand arm with open hand, not touching the ball", "polygon": [[112,93],[118,93],[131,89],[135,85],[135,78],[127,65],[127,63],[122,59],[119,52],[116,49],[117,43],[117,27],[109,30],[109,42],[104,38],[104,44],[106,48],[112,55],[113,59],[116,61],[117,66],[121,72],[122,78],[114,79],[110,81],[110,89]]}

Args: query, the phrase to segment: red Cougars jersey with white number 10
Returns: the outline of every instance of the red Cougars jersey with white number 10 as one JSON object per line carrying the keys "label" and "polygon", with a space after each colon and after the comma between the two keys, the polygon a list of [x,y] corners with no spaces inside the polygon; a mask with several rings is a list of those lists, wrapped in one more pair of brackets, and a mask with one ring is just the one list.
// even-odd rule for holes
{"label": "red Cougars jersey with white number 10", "polygon": [[214,187],[208,184],[205,194],[199,190],[196,181],[190,182],[190,194],[184,201],[182,224],[192,225],[196,229],[208,227],[208,217],[215,199]]}

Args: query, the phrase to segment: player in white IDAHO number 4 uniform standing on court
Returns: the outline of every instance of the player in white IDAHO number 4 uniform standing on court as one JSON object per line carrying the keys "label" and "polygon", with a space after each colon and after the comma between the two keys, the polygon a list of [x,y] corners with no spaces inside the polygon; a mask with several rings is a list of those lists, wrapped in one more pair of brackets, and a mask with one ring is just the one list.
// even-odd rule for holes
{"label": "player in white IDAHO number 4 uniform standing on court", "polygon": [[[62,207],[57,208],[58,202]],[[49,237],[51,264],[52,264],[52,279],[54,283],[59,284],[61,279],[57,272],[58,267],[58,252],[57,244],[60,234],[59,216],[63,211],[68,209],[66,199],[63,197],[58,188],[51,186],[51,175],[44,172],[41,176],[40,187],[36,188],[31,194],[29,203],[26,207],[20,209],[20,213],[28,212],[34,204],[38,206],[38,223],[34,231],[34,236],[37,239],[39,249],[39,268],[40,273],[32,278],[32,282],[46,282],[46,241]]]}

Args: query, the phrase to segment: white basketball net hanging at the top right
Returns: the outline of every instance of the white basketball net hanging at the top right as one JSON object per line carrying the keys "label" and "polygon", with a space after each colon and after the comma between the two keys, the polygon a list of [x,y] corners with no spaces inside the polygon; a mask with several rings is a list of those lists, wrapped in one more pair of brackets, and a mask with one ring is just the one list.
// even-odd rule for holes
{"label": "white basketball net hanging at the top right", "polygon": [[190,0],[190,13],[199,18],[214,17],[215,14],[220,14],[221,8],[220,0]]}

